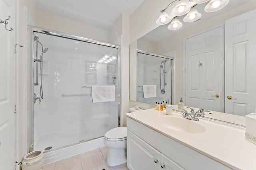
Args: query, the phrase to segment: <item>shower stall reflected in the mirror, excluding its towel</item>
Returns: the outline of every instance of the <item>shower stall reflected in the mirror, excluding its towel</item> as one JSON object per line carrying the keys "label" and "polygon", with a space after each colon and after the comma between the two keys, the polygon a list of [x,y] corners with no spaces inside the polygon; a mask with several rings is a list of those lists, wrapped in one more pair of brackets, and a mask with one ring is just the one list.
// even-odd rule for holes
{"label": "shower stall reflected in the mirror, excluding its towel", "polygon": [[[156,104],[172,103],[173,57],[137,50],[137,101]],[[156,98],[144,98],[143,85],[156,85]]]}

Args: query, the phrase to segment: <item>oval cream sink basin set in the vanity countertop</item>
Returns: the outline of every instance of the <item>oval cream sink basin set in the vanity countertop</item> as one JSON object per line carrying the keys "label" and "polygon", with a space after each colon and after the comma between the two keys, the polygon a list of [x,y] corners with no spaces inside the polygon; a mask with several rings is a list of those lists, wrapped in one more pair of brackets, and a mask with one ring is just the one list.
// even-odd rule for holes
{"label": "oval cream sink basin set in the vanity countertop", "polygon": [[160,125],[174,131],[184,133],[203,133],[205,131],[205,127],[199,124],[200,121],[192,121],[183,117],[164,116],[157,118],[157,121],[159,121]]}

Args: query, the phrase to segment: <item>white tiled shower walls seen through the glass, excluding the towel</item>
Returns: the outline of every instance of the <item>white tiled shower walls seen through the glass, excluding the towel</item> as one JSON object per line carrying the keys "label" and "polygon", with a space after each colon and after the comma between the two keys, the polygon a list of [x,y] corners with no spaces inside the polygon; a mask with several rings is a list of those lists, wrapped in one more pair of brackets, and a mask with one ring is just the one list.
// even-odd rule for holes
{"label": "white tiled shower walls seen through the glass, excluding the towel", "polygon": [[[92,103],[91,88],[81,86],[113,85],[111,77],[118,77],[118,62],[105,64],[98,60],[105,54],[117,57],[118,49],[37,34],[44,48],[49,50],[43,55],[43,99],[40,104],[38,100],[34,104],[35,149],[44,139],[56,137],[66,141],[58,141],[66,146],[104,136],[106,131],[117,127],[118,79],[115,80],[114,102]],[[40,56],[41,46],[38,47]],[[34,92],[39,97],[40,74],[38,82]]]}

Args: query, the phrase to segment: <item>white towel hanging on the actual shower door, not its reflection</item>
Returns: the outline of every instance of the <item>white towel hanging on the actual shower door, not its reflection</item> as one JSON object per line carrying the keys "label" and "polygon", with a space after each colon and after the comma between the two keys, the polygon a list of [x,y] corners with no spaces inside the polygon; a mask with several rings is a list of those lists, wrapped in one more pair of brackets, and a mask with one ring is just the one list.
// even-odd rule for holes
{"label": "white towel hanging on the actual shower door, not its reflection", "polygon": [[92,102],[115,101],[115,86],[92,86]]}

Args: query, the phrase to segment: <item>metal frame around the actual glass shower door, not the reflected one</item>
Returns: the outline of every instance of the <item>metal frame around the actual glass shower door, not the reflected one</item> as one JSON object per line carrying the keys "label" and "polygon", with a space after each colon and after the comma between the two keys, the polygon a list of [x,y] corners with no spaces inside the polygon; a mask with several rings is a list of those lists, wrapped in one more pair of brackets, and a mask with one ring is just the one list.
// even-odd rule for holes
{"label": "metal frame around the actual glass shower door, not the reflected one", "polygon": [[[103,41],[96,41],[93,39],[88,39],[88,38],[84,38],[84,37],[80,37],[80,36],[76,36],[76,35],[71,35],[71,34],[67,34],[67,33],[62,33],[59,31],[54,31],[54,30],[50,30],[50,29],[44,29],[41,27],[36,27],[36,26],[32,26],[32,25],[28,25],[28,147],[30,145],[30,143],[34,143],[34,32],[37,33],[44,33],[46,35],[53,35],[56,37],[62,37],[62,38],[68,38],[68,39],[72,39],[72,40],[78,40],[78,41],[83,41],[86,43],[93,43],[93,44],[97,44],[97,45],[104,45],[104,46],[108,46],[108,47],[114,47],[118,49],[118,79],[119,82],[121,83],[121,79],[120,79],[120,62],[121,62],[121,46],[120,45],[116,45],[116,44],[112,44],[112,43],[106,43]],[[120,84],[118,83],[118,93],[120,92]],[[121,94],[120,94],[121,95]],[[119,95],[118,95],[119,96]],[[118,101],[121,98],[118,97]],[[120,122],[120,120],[122,120],[122,114],[120,113],[120,108],[121,108],[121,104],[118,104],[118,122]],[[118,127],[120,126],[120,124],[118,123]],[[32,134],[32,136],[31,136]],[[99,137],[100,138],[100,137]],[[93,139],[90,139],[93,140]],[[88,140],[88,141],[90,141]],[[80,143],[84,143],[86,141],[80,142]],[[77,145],[78,143],[74,143],[72,145]],[[68,146],[72,146],[72,145],[68,145]],[[64,146],[64,147],[60,147],[58,149],[61,148],[66,148],[68,146]],[[51,151],[51,150],[49,150]],[[46,151],[46,152],[49,152]]]}

